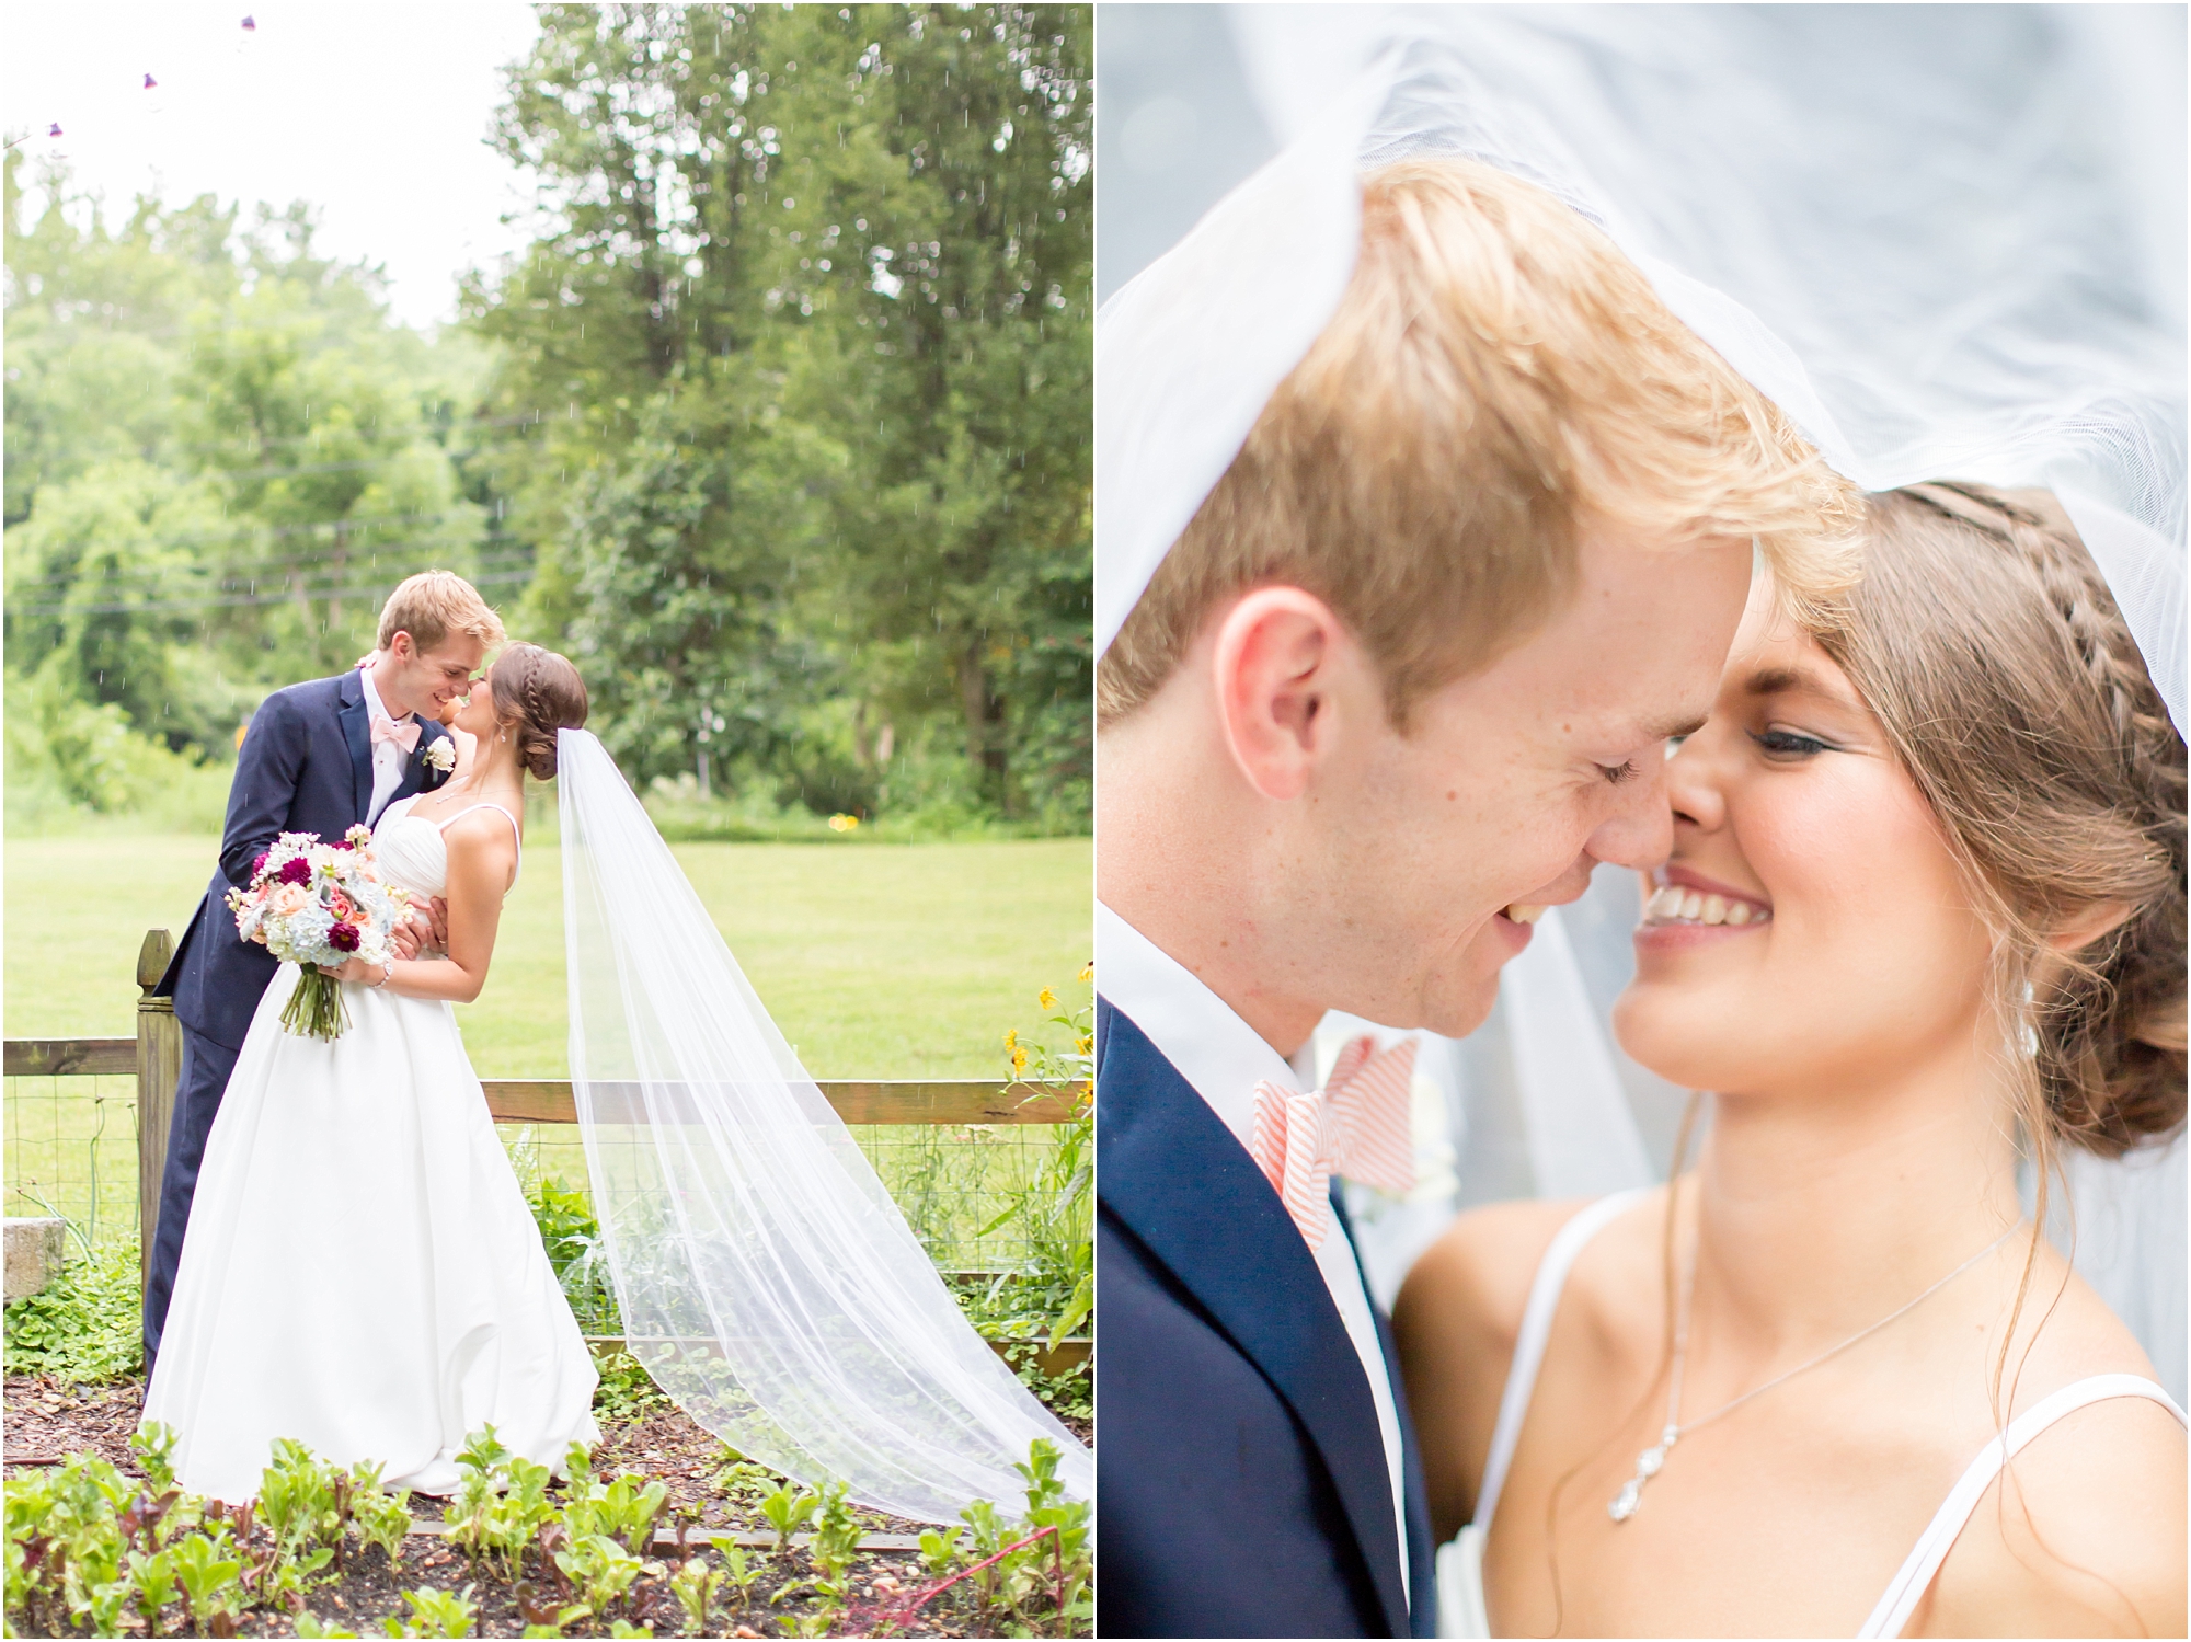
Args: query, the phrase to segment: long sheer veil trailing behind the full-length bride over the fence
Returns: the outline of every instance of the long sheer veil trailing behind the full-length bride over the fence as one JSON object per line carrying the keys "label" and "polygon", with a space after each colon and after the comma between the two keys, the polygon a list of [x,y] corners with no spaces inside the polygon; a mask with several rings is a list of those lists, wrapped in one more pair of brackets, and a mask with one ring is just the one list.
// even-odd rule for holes
{"label": "long sheer veil trailing behind the full-length bride over the fence", "polygon": [[953,1522],[1087,1449],[944,1290],[684,869],[583,729],[557,736],[570,1075],[624,1340],[695,1421],[800,1482]]}

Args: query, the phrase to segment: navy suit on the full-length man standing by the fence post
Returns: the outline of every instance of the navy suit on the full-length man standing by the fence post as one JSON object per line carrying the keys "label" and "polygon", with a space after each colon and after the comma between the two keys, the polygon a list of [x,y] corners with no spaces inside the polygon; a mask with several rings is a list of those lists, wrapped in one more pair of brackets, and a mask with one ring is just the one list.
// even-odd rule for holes
{"label": "navy suit on the full-length man standing by the fence post", "polygon": [[[388,801],[440,786],[447,777],[425,762],[427,749],[449,731],[418,720],[418,747],[403,766],[403,782]],[[283,832],[318,832],[335,841],[372,808],[372,725],[357,672],[313,679],[267,696],[237,751],[221,828],[221,865],[182,933],[156,992],[175,998],[182,1022],[182,1079],[167,1134],[160,1176],[160,1226],[153,1237],[151,1276],[145,1283],[145,1360],[160,1351],[167,1303],[175,1292],[182,1233],[191,1224],[197,1165],[206,1134],[221,1110],[221,1092],[243,1049],[259,998],[280,961],[237,935],[228,911],[230,887],[248,889],[252,863]],[[151,1230],[151,1228],[147,1228]]]}

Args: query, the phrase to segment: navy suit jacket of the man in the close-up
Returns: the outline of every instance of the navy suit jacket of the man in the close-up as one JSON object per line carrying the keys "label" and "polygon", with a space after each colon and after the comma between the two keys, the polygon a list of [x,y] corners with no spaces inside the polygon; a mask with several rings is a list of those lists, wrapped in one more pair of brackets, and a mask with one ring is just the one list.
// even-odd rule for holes
{"label": "navy suit jacket of the man in the close-up", "polygon": [[1098,1635],[1435,1635],[1389,1335],[1404,1548],[1361,1357],[1286,1206],[1102,998],[1096,1033]]}

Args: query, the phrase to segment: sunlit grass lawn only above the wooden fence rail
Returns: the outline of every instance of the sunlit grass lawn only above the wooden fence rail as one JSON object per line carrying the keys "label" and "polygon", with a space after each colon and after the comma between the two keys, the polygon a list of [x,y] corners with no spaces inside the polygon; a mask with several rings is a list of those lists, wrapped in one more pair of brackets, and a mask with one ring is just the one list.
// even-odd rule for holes
{"label": "sunlit grass lawn only above the wooden fence rail", "polygon": [[[136,952],[175,935],[213,839],[7,845],[7,1036],[136,1031]],[[920,845],[677,845],[730,950],[815,1077],[997,1077],[1008,1027],[1089,959],[1087,839]],[[526,849],[495,968],[458,1011],[482,1077],[565,1077],[563,876]]]}

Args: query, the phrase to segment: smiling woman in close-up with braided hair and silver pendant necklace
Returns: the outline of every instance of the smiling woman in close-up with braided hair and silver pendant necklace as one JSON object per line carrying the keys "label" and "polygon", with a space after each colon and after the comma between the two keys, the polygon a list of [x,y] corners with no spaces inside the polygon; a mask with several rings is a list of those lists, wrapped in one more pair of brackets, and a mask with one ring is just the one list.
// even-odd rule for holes
{"label": "smiling woman in close-up with braided hair and silver pendant necklace", "polygon": [[2182,1123],[2184,744],[2051,495],[1871,514],[1667,764],[1615,1029],[1694,1171],[1400,1294],[1446,1633],[2184,1631],[2182,1410],[2018,1204]]}

